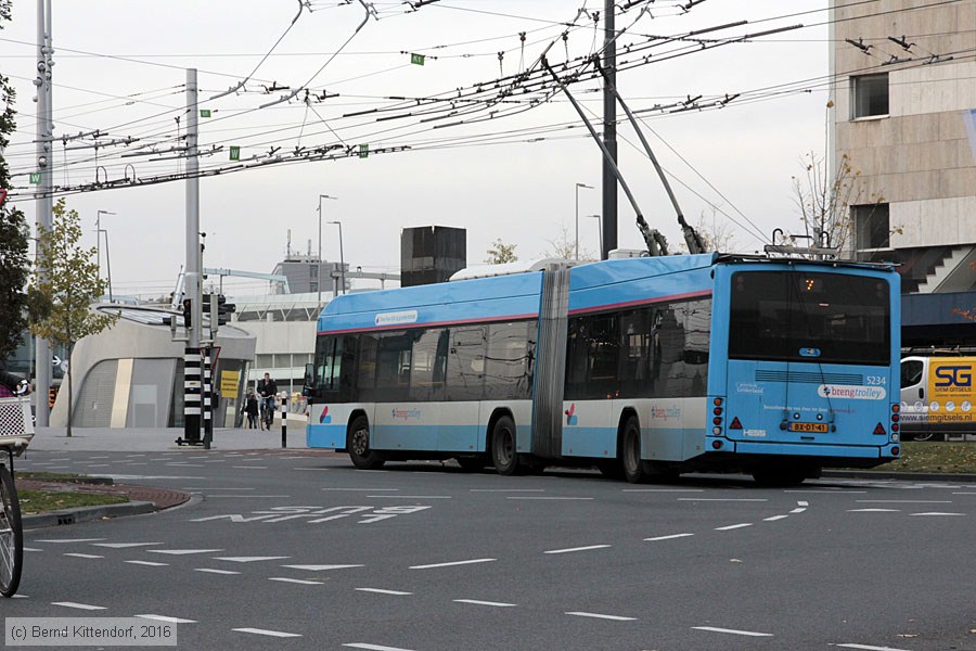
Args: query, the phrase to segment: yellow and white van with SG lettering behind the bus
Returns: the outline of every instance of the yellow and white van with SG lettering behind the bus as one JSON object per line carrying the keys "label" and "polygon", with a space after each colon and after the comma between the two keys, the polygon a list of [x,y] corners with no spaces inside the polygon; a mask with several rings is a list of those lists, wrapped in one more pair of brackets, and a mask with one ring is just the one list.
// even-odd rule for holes
{"label": "yellow and white van with SG lettering behind the bus", "polygon": [[901,360],[901,437],[976,434],[976,357]]}

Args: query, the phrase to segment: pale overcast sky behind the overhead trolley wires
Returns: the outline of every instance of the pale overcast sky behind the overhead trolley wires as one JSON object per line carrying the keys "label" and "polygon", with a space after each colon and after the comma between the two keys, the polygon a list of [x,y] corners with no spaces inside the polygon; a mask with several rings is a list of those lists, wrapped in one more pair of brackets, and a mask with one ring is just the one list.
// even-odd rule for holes
{"label": "pale overcast sky behind the overhead trolley wires", "polygon": [[[599,220],[589,216],[601,212],[602,154],[538,62],[545,51],[557,72],[567,62],[581,69],[602,47],[594,13],[603,0],[374,1],[370,12],[362,0],[53,4],[54,184],[80,214],[89,245],[98,212],[115,213],[103,214],[101,227],[117,295],[172,290],[185,258],[187,182],[94,183],[185,168],[170,148],[183,142],[188,67],[198,69],[200,107],[211,112],[200,119],[201,151],[217,150],[201,168],[224,170],[200,180],[206,267],[270,273],[290,239],[291,251],[314,253],[320,194],[336,197],[322,202],[322,255],[338,260],[339,228],[330,222],[341,221],[352,269],[397,271],[401,229],[426,225],[466,229],[468,264],[483,263],[496,239],[515,244],[519,259],[543,257],[575,240],[577,196],[580,251],[599,252]],[[20,112],[3,153],[16,175],[8,201],[31,224],[36,5],[14,0],[0,30],[0,73],[17,89]],[[822,155],[825,144],[826,0],[618,2],[627,5],[616,18],[625,29],[617,87],[689,221],[704,219],[740,252],[760,250],[774,228],[799,232],[792,177],[802,173],[801,156]],[[699,37],[715,40],[673,38],[740,21],[748,24]],[[787,25],[802,27],[719,42]],[[411,53],[424,54],[423,65]],[[241,81],[237,92],[217,97]],[[283,86],[299,92],[277,102],[291,92],[274,90]],[[504,88],[514,90],[502,95]],[[568,88],[599,130],[600,85],[585,74]],[[313,99],[304,101],[301,89]],[[98,139],[61,140],[95,129]],[[618,139],[619,167],[642,214],[677,248],[675,210],[630,125],[620,124]],[[368,157],[345,155],[362,143]],[[247,168],[230,171],[240,165],[232,145]],[[308,161],[317,148],[331,159]],[[268,164],[274,156],[281,161]],[[618,245],[643,247],[622,192],[618,206]],[[103,237],[103,255],[104,246]],[[224,282],[230,294],[264,286]]]}

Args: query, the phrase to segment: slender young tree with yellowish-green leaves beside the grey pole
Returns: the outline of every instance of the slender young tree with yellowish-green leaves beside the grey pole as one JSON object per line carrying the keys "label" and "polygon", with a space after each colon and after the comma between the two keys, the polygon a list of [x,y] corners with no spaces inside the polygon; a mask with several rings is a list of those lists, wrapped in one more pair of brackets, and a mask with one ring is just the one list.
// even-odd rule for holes
{"label": "slender young tree with yellowish-green leaves beside the grey pole", "polygon": [[94,247],[85,250],[81,240],[81,219],[77,210],[68,210],[64,199],[54,206],[50,230],[38,229],[37,266],[31,285],[33,299],[38,304],[31,317],[30,331],[60,344],[67,350],[68,425],[72,435],[72,352],[75,342],[98,334],[115,322],[115,316],[92,311],[107,288],[99,277]]}

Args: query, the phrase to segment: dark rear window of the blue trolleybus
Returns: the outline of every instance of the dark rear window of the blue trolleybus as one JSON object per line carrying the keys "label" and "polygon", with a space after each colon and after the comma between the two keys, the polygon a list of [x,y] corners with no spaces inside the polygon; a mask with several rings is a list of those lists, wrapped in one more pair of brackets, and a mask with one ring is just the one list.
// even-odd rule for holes
{"label": "dark rear window of the blue trolleybus", "polygon": [[888,283],[802,271],[732,276],[729,358],[887,366]]}

